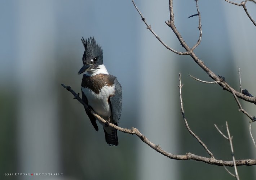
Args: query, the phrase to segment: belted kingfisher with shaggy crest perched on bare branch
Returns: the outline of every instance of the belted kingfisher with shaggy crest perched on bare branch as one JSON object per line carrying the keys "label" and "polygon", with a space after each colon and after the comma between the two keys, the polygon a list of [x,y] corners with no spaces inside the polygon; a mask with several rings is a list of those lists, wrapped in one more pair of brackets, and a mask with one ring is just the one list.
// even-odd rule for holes
{"label": "belted kingfisher with shaggy crest perched on bare branch", "polygon": [[[106,143],[118,145],[116,129],[108,126],[109,123],[118,125],[122,110],[122,87],[115,76],[107,72],[103,64],[103,51],[96,43],[94,37],[84,40],[83,64],[78,74],[85,72],[81,84],[82,99],[99,116],[107,122],[101,121],[105,132]],[[98,131],[96,118],[85,108],[85,112],[90,118],[93,127]]]}

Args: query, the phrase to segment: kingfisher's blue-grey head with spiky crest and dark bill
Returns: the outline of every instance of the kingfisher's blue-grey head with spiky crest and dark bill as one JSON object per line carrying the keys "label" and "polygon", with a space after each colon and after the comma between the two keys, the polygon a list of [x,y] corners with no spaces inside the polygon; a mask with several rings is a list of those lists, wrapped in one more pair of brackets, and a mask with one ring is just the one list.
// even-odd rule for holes
{"label": "kingfisher's blue-grey head with spiky crest and dark bill", "polygon": [[82,37],[81,41],[84,45],[84,66],[78,72],[79,75],[85,71],[95,71],[98,69],[98,66],[103,64],[103,51],[101,46],[96,43],[94,37],[90,37],[88,40],[84,40]]}

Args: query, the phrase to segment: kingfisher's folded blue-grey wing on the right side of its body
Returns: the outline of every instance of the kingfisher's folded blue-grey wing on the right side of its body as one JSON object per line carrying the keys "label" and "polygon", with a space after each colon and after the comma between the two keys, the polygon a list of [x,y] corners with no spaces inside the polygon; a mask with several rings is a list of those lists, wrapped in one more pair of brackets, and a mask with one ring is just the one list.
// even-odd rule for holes
{"label": "kingfisher's folded blue-grey wing on the right side of its body", "polygon": [[122,87],[115,76],[114,85],[115,85],[115,94],[110,96],[110,104],[113,121],[116,125],[119,123],[119,119],[122,111]]}

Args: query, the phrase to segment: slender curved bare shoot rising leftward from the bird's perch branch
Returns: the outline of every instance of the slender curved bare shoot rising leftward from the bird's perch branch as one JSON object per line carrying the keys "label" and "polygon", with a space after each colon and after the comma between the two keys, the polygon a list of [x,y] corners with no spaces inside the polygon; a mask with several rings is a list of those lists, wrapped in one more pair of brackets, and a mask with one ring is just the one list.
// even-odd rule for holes
{"label": "slender curved bare shoot rising leftward from the bird's perch branch", "polygon": [[195,139],[197,139],[197,141],[203,146],[203,148],[206,150],[206,152],[211,156],[211,158],[214,158],[213,154],[211,153],[211,151],[209,151],[209,149],[206,147],[206,145],[198,138],[197,135],[195,135],[195,133],[190,129],[189,125],[187,124],[187,120],[186,120],[186,117],[185,117],[185,112],[184,112],[184,108],[183,108],[183,102],[182,102],[182,96],[181,96],[181,88],[183,86],[183,84],[181,85],[181,74],[179,72],[179,83],[180,85],[178,86],[179,89],[180,89],[180,107],[181,107],[181,114],[183,116],[183,120],[185,122],[185,126],[187,128],[187,130],[190,132],[190,134],[192,136],[195,137]]}

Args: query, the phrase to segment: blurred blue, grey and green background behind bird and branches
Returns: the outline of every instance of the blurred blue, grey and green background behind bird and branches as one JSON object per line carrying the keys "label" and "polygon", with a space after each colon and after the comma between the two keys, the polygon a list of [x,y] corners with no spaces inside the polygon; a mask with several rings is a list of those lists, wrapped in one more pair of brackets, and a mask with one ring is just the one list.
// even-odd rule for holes
{"label": "blurred blue, grey and green background behind bird and branches", "polygon": [[[240,1],[237,1],[240,3]],[[174,1],[175,25],[187,44],[198,40],[195,1]],[[171,29],[168,1],[137,2],[153,30],[170,47],[184,51]],[[256,4],[247,9],[256,19]],[[202,42],[195,53],[217,75],[239,90],[256,94],[255,26],[242,7],[224,0],[199,1]],[[102,46],[109,73],[123,87],[119,126],[136,127],[149,140],[174,154],[208,154],[184,126],[180,114],[181,72],[185,114],[191,130],[216,159],[231,160],[228,141],[213,124],[233,135],[236,159],[255,159],[249,119],[238,111],[232,94],[211,81],[189,57],[164,48],[146,29],[129,1],[0,1],[0,179],[234,179],[224,167],[172,160],[137,136],[118,132],[119,146],[105,143],[83,106],[61,83],[80,92],[84,47],[81,36]],[[255,105],[242,101],[252,115]],[[252,123],[256,138],[256,125]],[[234,172],[233,168],[229,168]],[[240,179],[255,179],[256,166],[238,167]],[[7,173],[62,173],[63,176],[5,176]]]}

